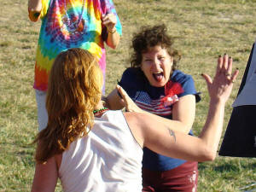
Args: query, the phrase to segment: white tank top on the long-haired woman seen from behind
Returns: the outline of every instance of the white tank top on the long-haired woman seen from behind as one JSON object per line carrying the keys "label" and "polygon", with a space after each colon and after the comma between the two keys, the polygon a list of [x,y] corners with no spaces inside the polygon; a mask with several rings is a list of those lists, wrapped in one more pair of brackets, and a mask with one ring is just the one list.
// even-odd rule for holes
{"label": "white tank top on the long-haired woman seen from behind", "polygon": [[65,192],[141,192],[143,149],[122,111],[95,119],[88,136],[63,152],[59,177]]}

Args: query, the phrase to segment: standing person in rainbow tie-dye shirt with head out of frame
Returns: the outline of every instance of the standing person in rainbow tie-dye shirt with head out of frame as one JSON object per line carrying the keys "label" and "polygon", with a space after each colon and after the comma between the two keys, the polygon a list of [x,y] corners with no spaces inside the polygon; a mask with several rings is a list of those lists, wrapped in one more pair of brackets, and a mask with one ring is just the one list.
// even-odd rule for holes
{"label": "standing person in rainbow tie-dye shirt with head out of frame", "polygon": [[[49,70],[55,57],[70,48],[89,50],[96,55],[105,83],[104,42],[115,49],[119,44],[122,26],[112,0],[29,0],[28,13],[30,20],[42,20],[33,86],[41,131],[48,122],[45,96]],[[103,94],[104,88],[103,85]]]}

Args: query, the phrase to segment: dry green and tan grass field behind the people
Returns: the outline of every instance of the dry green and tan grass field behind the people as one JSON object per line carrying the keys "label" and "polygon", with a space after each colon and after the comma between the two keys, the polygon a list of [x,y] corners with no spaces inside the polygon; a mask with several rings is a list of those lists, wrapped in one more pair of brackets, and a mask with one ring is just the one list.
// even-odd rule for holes
{"label": "dry green and tan grass field behind the people", "polygon": [[[255,40],[255,0],[113,0],[123,26],[118,49],[108,49],[107,93],[129,66],[131,37],[140,26],[166,23],[202,100],[196,106],[197,134],[207,115],[207,86],[201,73],[213,74],[218,55],[234,58],[240,75],[226,107],[230,118],[250,49]],[[27,0],[0,1],[0,192],[29,191],[34,173],[33,138],[38,132],[33,84],[40,22],[27,17]],[[241,191],[256,182],[256,160],[218,157],[200,163],[198,191]],[[256,186],[243,191],[256,191]],[[58,184],[56,191],[61,191]]]}

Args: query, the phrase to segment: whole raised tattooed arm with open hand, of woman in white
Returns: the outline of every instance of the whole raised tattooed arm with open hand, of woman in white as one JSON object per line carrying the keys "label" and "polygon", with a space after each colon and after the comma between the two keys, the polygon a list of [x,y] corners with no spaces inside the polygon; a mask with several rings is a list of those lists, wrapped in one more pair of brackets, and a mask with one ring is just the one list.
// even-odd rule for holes
{"label": "whole raised tattooed arm with open hand, of woman in white", "polygon": [[[171,126],[155,122],[143,113],[125,114],[127,122],[138,142],[157,153],[183,160],[214,160],[222,133],[224,119],[224,105],[230,96],[233,80],[238,71],[231,73],[232,59],[227,55],[218,58],[215,78],[204,74],[208,92],[211,97],[207,121],[200,137],[191,137],[183,133],[172,131]],[[161,129],[160,129],[161,128]]]}

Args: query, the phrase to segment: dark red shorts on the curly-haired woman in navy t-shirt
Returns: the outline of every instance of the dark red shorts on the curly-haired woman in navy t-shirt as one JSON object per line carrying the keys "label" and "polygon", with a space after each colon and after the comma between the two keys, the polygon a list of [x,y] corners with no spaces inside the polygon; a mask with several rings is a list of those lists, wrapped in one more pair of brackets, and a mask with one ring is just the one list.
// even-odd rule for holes
{"label": "dark red shorts on the curly-haired woman in navy t-shirt", "polygon": [[197,162],[187,161],[165,172],[154,172],[143,168],[143,192],[195,192],[197,179]]}

